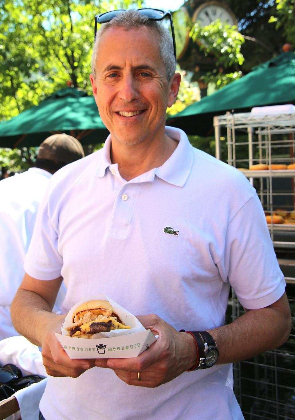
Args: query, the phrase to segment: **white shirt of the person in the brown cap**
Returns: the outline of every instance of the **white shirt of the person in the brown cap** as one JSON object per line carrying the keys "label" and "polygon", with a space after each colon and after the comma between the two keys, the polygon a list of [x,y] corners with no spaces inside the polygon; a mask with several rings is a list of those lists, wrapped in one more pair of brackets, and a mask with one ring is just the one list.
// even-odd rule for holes
{"label": "white shirt of the person in the brown cap", "polygon": [[[10,305],[24,277],[24,257],[51,176],[43,169],[30,168],[0,181],[0,340],[18,335]],[[64,295],[59,297],[63,300]]]}

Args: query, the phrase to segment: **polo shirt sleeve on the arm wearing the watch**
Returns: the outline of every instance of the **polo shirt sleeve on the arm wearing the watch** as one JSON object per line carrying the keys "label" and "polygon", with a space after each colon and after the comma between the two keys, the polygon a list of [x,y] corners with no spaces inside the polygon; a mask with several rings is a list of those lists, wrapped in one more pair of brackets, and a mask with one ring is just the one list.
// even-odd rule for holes
{"label": "polo shirt sleeve on the arm wearing the watch", "polygon": [[284,293],[284,275],[256,192],[229,221],[224,255],[217,266],[247,309],[269,306]]}

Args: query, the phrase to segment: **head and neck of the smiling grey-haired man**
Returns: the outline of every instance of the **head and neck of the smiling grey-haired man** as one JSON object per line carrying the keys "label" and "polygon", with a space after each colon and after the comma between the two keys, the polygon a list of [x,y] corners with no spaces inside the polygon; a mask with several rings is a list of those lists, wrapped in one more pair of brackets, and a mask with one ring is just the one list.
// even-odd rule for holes
{"label": "head and neck of the smiling grey-haired man", "polygon": [[165,121],[180,75],[167,76],[159,37],[150,26],[111,27],[97,39],[90,80],[100,117],[111,132],[111,161],[126,181],[161,166],[178,144],[165,134]]}

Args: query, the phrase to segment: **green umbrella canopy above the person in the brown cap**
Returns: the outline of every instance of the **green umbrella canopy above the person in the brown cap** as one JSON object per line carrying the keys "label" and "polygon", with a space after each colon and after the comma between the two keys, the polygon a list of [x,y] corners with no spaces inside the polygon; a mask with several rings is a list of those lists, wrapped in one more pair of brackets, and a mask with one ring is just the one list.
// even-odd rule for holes
{"label": "green umbrella canopy above the person in the brown cap", "polygon": [[98,114],[94,97],[69,87],[0,123],[0,147],[39,146],[55,133],[70,134],[82,144],[97,144],[105,141],[108,130]]}

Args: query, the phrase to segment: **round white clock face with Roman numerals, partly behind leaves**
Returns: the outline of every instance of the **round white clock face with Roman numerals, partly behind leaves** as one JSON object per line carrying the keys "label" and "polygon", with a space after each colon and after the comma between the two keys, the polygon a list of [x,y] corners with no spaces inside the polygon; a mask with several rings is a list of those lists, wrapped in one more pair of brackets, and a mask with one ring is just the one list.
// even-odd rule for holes
{"label": "round white clock face with Roman numerals, partly behind leaves", "polygon": [[200,5],[192,16],[193,22],[201,26],[210,25],[216,19],[231,26],[237,26],[237,19],[227,5],[218,1],[208,1]]}

